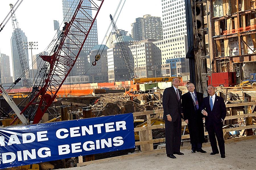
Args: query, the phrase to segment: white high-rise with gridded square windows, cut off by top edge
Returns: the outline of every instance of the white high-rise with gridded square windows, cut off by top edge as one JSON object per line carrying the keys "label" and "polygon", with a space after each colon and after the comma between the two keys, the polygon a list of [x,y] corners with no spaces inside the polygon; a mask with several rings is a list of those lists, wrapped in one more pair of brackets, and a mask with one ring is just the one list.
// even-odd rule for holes
{"label": "white high-rise with gridded square windows, cut off by top edge", "polygon": [[184,0],[162,0],[164,39],[187,35]]}

